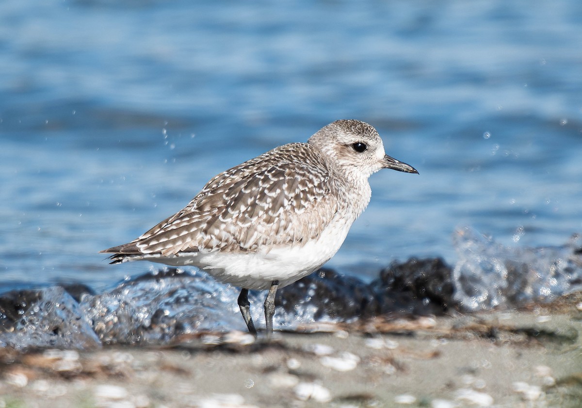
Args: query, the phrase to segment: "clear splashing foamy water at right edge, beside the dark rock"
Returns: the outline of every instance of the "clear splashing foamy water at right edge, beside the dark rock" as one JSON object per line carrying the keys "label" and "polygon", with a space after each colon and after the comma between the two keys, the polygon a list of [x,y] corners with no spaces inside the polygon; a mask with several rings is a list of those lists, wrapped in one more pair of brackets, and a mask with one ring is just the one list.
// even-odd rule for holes
{"label": "clear splashing foamy water at right edge, beside the dark rock", "polygon": [[519,306],[582,290],[582,239],[560,247],[505,247],[472,228],[453,235],[455,299],[469,311]]}

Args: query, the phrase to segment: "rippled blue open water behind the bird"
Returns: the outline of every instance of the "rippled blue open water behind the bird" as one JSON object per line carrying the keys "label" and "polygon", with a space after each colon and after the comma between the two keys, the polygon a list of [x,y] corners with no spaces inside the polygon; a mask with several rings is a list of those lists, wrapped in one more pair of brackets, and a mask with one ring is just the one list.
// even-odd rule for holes
{"label": "rippled blue open water behind the bird", "polygon": [[342,118],[420,175],[371,178],[329,266],[454,263],[582,232],[582,3],[0,2],[0,290],[147,271],[101,249],[215,174]]}

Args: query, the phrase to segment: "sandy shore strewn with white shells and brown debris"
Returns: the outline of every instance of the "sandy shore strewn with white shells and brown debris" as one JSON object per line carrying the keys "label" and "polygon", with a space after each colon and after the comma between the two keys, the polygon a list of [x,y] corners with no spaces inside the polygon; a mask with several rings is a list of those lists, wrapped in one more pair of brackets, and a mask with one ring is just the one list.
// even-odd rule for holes
{"label": "sandy shore strewn with white shells and brown debris", "polygon": [[580,407],[582,295],[520,311],[1,353],[0,407]]}

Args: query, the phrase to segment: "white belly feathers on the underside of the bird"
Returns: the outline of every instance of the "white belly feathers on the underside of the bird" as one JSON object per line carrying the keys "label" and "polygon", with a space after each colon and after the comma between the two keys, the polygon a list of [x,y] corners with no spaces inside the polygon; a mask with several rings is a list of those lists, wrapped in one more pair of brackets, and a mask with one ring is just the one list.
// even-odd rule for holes
{"label": "white belly feathers on the underside of the bird", "polygon": [[168,265],[193,265],[224,283],[247,289],[268,289],[273,281],[279,287],[311,274],[325,264],[342,246],[351,222],[338,220],[328,226],[318,240],[303,246],[272,247],[255,253],[180,253],[177,257],[145,257]]}

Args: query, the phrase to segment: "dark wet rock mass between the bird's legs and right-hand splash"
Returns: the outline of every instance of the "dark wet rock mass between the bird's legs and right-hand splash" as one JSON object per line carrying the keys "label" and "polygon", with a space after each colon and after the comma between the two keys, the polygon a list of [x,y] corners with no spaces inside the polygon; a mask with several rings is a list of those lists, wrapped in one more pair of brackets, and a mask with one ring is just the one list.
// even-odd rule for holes
{"label": "dark wet rock mass between the bird's legs and right-hand splash", "polygon": [[441,258],[393,262],[370,284],[320,269],[279,290],[276,304],[294,313],[307,304],[314,319],[350,320],[381,314],[441,315],[455,308],[452,268]]}

